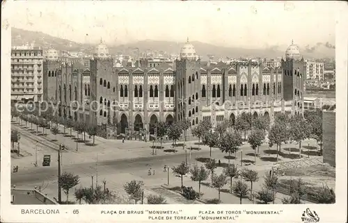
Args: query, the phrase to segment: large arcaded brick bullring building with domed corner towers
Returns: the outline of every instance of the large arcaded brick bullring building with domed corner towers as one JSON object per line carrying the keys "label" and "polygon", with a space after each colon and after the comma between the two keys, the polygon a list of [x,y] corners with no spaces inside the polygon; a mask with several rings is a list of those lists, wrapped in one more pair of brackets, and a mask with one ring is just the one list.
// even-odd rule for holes
{"label": "large arcaded brick bullring building with domed corner towers", "polygon": [[[203,119],[213,126],[242,113],[270,119],[276,113],[303,114],[306,67],[299,47],[291,44],[281,67],[262,61],[201,63],[187,41],[173,65],[114,66],[102,41],[89,67],[68,63],[47,51],[44,99],[58,104],[58,115],[98,125],[116,124],[153,132],[152,123],[188,118],[191,126]],[[140,63],[139,63],[140,64]],[[78,106],[79,105],[79,106]]]}

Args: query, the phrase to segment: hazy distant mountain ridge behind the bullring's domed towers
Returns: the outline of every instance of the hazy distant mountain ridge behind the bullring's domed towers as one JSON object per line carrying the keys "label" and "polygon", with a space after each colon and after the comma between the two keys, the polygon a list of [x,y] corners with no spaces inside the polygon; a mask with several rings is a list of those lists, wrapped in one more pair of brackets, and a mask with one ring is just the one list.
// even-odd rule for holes
{"label": "hazy distant mountain ridge behind the bullring's domed towers", "polygon": [[[49,48],[51,45],[58,50],[68,51],[85,51],[86,53],[92,53],[93,45],[78,43],[62,38],[56,38],[52,35],[48,35],[42,32],[26,31],[19,28],[12,28],[12,45],[21,45],[26,42],[35,42],[36,46]],[[260,57],[260,58],[276,58],[285,55],[286,46],[273,46],[267,49],[245,49],[241,47],[219,47],[213,44],[207,44],[203,42],[191,42],[196,49],[198,55],[202,58],[207,58],[208,54],[214,55],[214,58],[239,58],[239,57]],[[109,51],[111,54],[119,52],[125,53],[139,49],[139,54],[151,50],[151,51],[164,51],[166,53],[179,53],[180,48],[184,42],[168,42],[168,41],[156,41],[156,40],[142,40],[139,42],[122,44],[118,46],[109,45]],[[301,53],[303,58],[334,58],[335,49],[334,46],[325,43],[317,43],[314,47],[306,46],[301,47]]]}

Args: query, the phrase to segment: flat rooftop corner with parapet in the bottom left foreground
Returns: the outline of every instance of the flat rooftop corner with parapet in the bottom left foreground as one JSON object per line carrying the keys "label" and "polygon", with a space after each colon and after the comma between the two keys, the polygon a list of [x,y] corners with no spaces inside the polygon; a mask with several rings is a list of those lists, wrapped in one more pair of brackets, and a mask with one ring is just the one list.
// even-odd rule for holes
{"label": "flat rooftop corner with parapet in the bottom left foreground", "polygon": [[11,195],[13,196],[12,204],[56,204],[38,190],[11,189]]}

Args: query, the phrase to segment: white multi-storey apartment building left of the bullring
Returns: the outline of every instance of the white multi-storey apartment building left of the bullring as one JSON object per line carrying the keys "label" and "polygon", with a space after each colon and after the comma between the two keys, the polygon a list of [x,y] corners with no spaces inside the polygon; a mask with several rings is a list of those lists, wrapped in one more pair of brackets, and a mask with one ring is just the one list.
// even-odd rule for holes
{"label": "white multi-storey apartment building left of the bullring", "polygon": [[42,100],[41,47],[33,44],[11,49],[11,101]]}

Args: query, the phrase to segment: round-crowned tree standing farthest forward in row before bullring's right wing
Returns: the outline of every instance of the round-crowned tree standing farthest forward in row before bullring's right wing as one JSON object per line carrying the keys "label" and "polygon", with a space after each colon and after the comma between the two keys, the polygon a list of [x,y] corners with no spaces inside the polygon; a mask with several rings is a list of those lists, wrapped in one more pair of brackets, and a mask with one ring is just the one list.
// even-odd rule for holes
{"label": "round-crowned tree standing farthest forward in row before bullring's right wing", "polygon": [[[226,132],[219,140],[219,149],[222,152],[228,153],[228,156],[231,153],[236,153],[241,145],[242,137],[237,131],[234,133]],[[230,158],[228,158],[228,165],[230,165]]]}

